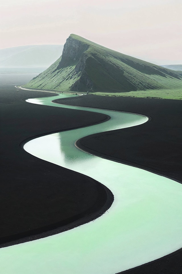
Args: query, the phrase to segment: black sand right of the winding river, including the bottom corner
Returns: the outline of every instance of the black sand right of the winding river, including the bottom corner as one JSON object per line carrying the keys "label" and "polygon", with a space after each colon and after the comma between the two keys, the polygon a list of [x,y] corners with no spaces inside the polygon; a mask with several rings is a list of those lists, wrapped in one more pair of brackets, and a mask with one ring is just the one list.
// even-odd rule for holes
{"label": "black sand right of the winding river, including the bottom corner", "polygon": [[[59,102],[149,116],[151,120],[145,124],[84,137],[78,145],[103,158],[137,166],[182,183],[182,100],[87,95]],[[121,273],[181,274],[182,249]]]}

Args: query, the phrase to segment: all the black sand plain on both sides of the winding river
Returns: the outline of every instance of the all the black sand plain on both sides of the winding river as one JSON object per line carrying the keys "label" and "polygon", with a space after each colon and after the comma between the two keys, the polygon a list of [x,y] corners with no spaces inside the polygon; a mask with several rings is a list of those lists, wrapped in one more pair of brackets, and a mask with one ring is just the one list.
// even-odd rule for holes
{"label": "all the black sand plain on both sides of the winding river", "polygon": [[[62,226],[66,230],[79,222],[84,223],[86,217],[91,219],[102,214],[103,209],[112,203],[112,195],[107,189],[86,176],[28,154],[20,144],[34,136],[96,123],[106,117],[90,112],[85,115],[80,111],[73,113],[73,110],[28,104],[23,100],[52,96],[50,93],[16,91],[14,87],[7,90],[1,90],[1,209],[5,209],[1,217],[4,231],[1,243],[10,245],[44,237],[50,235],[50,229]],[[150,116],[151,120],[145,124],[95,134],[83,138],[79,145],[104,158],[138,166],[182,182],[182,101],[86,95],[59,102]],[[110,201],[106,202],[108,197]],[[51,231],[54,234],[58,230]],[[182,273],[182,249],[122,273]]]}

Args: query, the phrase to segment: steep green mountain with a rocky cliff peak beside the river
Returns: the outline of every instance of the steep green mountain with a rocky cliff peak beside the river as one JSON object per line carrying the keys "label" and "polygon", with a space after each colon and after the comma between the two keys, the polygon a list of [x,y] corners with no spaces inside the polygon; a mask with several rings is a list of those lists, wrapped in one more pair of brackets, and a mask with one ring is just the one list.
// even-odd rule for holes
{"label": "steep green mountain with a rocky cliff peak beside the river", "polygon": [[71,34],[62,56],[26,87],[59,91],[128,92],[182,84],[175,71]]}

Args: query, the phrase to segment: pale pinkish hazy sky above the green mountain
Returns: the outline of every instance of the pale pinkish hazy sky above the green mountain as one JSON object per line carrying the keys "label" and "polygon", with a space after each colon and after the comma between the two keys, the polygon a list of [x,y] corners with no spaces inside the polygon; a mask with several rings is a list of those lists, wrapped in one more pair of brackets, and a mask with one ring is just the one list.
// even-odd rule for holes
{"label": "pale pinkish hazy sky above the green mountain", "polygon": [[0,49],[71,33],[157,65],[182,64],[181,0],[0,0]]}

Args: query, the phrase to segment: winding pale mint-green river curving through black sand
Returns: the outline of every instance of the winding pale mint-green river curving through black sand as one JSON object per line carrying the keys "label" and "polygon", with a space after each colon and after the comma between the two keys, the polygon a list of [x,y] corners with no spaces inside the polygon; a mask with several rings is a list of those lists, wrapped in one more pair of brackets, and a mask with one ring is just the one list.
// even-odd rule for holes
{"label": "winding pale mint-green river curving through black sand", "polygon": [[[72,95],[69,95],[72,96]],[[65,106],[58,97],[27,102],[107,114],[93,126],[35,138],[30,154],[75,170],[111,190],[114,202],[98,219],[46,238],[0,249],[0,273],[114,274],[182,247],[182,185],[151,172],[90,155],[75,147],[83,136],[137,126],[146,116]]]}

